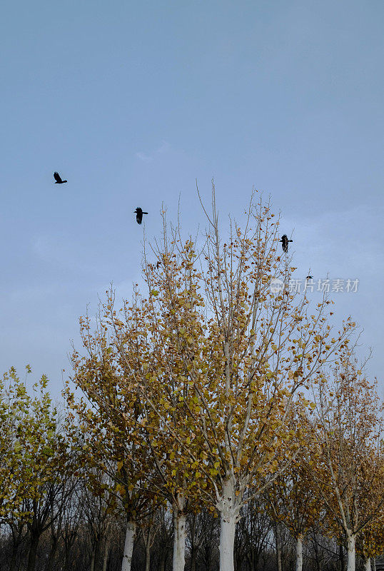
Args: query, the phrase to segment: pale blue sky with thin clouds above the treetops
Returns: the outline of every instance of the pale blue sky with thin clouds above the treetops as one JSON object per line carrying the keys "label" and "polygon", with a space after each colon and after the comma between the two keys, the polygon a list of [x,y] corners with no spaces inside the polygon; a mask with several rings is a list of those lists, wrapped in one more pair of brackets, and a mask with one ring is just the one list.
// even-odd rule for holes
{"label": "pale blue sky with thin clouds above the treetops", "polygon": [[375,0],[4,4],[1,370],[59,395],[79,315],[138,279],[133,210],[151,239],[181,194],[192,230],[214,176],[223,218],[271,195],[298,275],[360,280],[335,311],[383,378],[383,24]]}

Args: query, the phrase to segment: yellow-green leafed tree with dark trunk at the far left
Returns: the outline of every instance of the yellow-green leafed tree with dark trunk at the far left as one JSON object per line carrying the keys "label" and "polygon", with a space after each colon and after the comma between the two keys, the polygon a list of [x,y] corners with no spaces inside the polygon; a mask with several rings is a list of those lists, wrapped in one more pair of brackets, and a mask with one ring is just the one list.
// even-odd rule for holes
{"label": "yellow-green leafed tree with dark trunk at the far left", "polygon": [[[26,370],[31,372],[29,365]],[[11,368],[4,375],[1,389],[1,437],[8,435],[9,440],[7,445],[1,443],[4,488],[0,510],[3,520],[19,530],[18,535],[24,525],[27,527],[27,571],[34,571],[41,534],[60,517],[71,492],[74,457],[60,433],[58,413],[52,408],[45,375],[34,383],[31,396]]]}

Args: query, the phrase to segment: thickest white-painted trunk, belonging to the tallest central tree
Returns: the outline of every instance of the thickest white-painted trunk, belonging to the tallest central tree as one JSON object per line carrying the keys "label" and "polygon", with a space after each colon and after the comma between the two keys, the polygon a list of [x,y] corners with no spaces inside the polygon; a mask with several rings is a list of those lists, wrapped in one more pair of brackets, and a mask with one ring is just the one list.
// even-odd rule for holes
{"label": "thickest white-painted trunk, belonging to the tallest central tree", "polygon": [[235,494],[235,481],[228,478],[223,484],[223,495],[216,507],[220,512],[220,571],[234,571],[233,547],[240,502]]}

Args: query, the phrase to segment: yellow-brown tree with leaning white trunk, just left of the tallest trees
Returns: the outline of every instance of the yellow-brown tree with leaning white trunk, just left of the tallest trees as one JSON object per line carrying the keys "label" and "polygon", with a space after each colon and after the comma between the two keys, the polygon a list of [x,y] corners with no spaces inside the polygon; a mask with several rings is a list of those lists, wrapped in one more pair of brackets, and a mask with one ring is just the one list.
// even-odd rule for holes
{"label": "yellow-brown tree with leaning white trunk, just left of the tallest trees", "polygon": [[[122,571],[131,569],[136,527],[161,503],[151,489],[153,466],[145,433],[140,428],[141,409],[131,377],[125,378],[108,345],[102,323],[92,333],[88,317],[81,318],[81,337],[87,354],[72,355],[73,381],[83,394],[75,398],[69,383],[64,392],[79,420],[72,433],[81,433],[81,473],[94,495],[108,492],[111,510],[118,506],[126,517]],[[104,474],[106,477],[102,477]]]}

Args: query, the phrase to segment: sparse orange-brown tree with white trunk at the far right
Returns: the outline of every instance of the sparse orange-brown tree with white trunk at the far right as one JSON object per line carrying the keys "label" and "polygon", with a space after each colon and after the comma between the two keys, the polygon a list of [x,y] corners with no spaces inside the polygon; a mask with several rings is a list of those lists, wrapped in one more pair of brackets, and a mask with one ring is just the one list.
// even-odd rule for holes
{"label": "sparse orange-brown tree with white trunk at the far right", "polygon": [[313,434],[320,460],[313,475],[328,512],[328,528],[343,533],[348,571],[355,571],[355,541],[382,513],[384,502],[383,405],[345,348],[328,378],[315,387]]}

